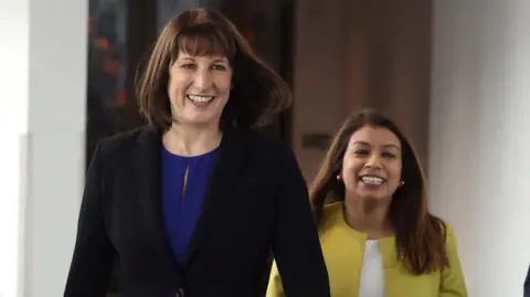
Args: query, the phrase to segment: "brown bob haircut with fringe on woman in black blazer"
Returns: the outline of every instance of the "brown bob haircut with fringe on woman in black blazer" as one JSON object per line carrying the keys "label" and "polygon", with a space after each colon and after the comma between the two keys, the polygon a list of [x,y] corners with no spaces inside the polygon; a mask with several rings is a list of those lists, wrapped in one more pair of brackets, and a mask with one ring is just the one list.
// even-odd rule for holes
{"label": "brown bob haircut with fringe on woman in black blazer", "polygon": [[137,75],[140,113],[160,130],[168,130],[173,121],[168,96],[169,68],[180,51],[229,60],[233,88],[221,116],[221,129],[259,127],[292,103],[288,85],[256,56],[232,22],[212,10],[191,9],[166,25],[145,70]]}

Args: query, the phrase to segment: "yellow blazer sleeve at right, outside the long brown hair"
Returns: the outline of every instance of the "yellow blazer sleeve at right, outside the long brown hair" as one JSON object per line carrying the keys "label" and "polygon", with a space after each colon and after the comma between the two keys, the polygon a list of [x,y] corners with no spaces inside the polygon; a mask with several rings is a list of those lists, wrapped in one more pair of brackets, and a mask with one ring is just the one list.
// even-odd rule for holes
{"label": "yellow blazer sleeve at right, outside the long brown hair", "polygon": [[460,259],[456,243],[456,235],[451,224],[446,224],[446,248],[449,258],[449,267],[442,272],[439,297],[467,297],[467,288],[462,271]]}

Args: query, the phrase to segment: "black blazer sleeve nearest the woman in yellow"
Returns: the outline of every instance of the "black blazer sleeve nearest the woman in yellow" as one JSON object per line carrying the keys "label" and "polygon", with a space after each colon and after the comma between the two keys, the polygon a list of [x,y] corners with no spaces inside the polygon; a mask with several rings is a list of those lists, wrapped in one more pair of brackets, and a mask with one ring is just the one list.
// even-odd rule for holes
{"label": "black blazer sleeve nearest the woman in yellow", "polygon": [[288,297],[328,297],[329,278],[306,182],[294,153],[278,160],[273,254]]}

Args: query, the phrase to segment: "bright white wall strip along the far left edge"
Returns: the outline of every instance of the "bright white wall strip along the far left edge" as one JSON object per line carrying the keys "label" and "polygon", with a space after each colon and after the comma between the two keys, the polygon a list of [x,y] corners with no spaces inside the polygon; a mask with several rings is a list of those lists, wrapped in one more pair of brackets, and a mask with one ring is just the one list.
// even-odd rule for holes
{"label": "bright white wall strip along the far left edge", "polygon": [[[22,296],[29,2],[0,1],[0,296]],[[13,30],[13,29],[17,30]],[[24,32],[24,33],[22,33]]]}

